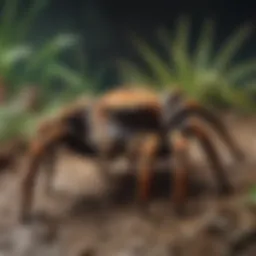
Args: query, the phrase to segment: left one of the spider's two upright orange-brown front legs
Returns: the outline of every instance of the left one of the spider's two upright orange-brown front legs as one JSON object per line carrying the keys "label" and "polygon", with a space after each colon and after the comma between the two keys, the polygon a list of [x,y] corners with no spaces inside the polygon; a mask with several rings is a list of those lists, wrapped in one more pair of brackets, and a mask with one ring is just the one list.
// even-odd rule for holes
{"label": "left one of the spider's two upright orange-brown front legs", "polygon": [[139,156],[138,169],[138,197],[141,201],[148,200],[152,182],[152,164],[155,161],[159,138],[157,135],[148,135],[142,144]]}

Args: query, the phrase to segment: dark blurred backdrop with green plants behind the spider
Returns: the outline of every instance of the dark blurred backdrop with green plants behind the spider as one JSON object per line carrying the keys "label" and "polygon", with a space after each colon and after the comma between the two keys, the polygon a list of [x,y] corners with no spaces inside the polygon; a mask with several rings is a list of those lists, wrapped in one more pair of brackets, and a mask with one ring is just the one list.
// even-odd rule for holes
{"label": "dark blurred backdrop with green plants behind the spider", "polygon": [[[31,135],[75,97],[123,82],[255,111],[254,12],[244,1],[2,0],[0,12],[3,139]],[[23,93],[33,88],[36,111]]]}

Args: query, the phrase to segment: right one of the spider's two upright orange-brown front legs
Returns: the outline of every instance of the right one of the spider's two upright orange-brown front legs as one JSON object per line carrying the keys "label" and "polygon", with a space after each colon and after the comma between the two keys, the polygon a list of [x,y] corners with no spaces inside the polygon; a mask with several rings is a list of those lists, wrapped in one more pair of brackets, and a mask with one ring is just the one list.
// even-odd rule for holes
{"label": "right one of the spider's two upright orange-brown front legs", "polygon": [[173,170],[173,202],[177,213],[182,213],[188,195],[188,171],[192,165],[188,154],[189,141],[182,133],[171,136],[172,158],[175,161]]}

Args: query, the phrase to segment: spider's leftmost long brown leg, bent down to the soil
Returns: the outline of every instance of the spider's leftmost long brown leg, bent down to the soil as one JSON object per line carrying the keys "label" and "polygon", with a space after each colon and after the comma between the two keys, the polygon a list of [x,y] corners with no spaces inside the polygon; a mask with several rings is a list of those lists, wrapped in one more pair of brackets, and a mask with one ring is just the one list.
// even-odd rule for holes
{"label": "spider's leftmost long brown leg, bent down to the soil", "polygon": [[30,219],[34,186],[36,177],[39,174],[39,165],[47,151],[54,147],[68,132],[66,127],[55,127],[49,130],[44,137],[37,136],[30,145],[28,155],[28,170],[21,183],[21,209],[20,222],[25,223]]}

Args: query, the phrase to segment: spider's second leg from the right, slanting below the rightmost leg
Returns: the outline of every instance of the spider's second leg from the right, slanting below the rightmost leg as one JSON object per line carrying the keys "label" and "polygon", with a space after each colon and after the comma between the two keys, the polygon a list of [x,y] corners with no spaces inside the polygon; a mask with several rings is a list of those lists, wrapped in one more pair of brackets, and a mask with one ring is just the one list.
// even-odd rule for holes
{"label": "spider's second leg from the right, slanting below the rightmost leg", "polygon": [[207,132],[207,128],[198,122],[188,122],[182,127],[182,132],[185,136],[195,137],[199,140],[206,157],[210,165],[212,166],[214,175],[219,183],[219,192],[223,194],[229,194],[233,191],[233,187],[230,184],[225,170],[220,161],[220,157],[214,147],[212,140]]}

